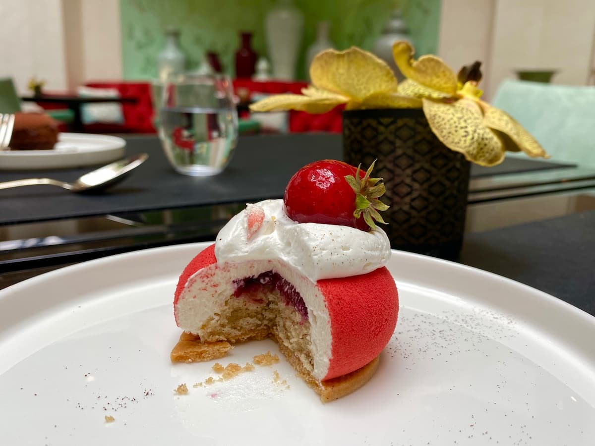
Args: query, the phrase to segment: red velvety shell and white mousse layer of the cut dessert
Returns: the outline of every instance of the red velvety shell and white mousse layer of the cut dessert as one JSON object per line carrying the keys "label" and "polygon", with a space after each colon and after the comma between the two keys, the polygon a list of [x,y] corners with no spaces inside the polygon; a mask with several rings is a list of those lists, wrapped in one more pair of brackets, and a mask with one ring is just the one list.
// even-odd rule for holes
{"label": "red velvety shell and white mousse layer of the cut dessert", "polygon": [[[217,264],[214,247],[207,247],[186,266],[176,288],[176,322],[189,332],[198,330],[190,326],[192,323],[189,321],[196,319],[199,309],[203,312],[208,300],[219,299],[220,287],[231,286],[234,281],[243,279],[234,277],[238,273],[230,265]],[[322,309],[318,311],[318,316],[312,316],[314,320],[309,321],[312,324],[312,344],[320,343],[312,348],[314,375],[318,375],[315,377],[320,381],[364,367],[389,342],[397,322],[399,296],[394,279],[386,268],[352,277],[321,279],[314,284],[302,276],[297,278],[289,270],[283,271],[290,268],[287,265],[275,268],[268,260],[251,263],[263,265],[249,265],[250,277],[275,269],[286,281],[292,282],[293,278],[295,283],[292,282],[292,286],[295,285],[309,309]]]}

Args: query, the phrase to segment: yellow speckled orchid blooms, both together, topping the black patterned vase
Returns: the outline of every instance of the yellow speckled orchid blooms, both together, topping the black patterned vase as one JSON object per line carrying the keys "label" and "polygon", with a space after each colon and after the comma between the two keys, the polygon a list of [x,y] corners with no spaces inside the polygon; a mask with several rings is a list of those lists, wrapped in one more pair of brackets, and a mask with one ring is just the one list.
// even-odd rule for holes
{"label": "yellow speckled orchid blooms, both together, topping the black patterned vase", "polygon": [[502,162],[506,150],[549,158],[511,116],[480,99],[480,62],[456,75],[440,58],[424,55],[415,60],[414,54],[409,42],[394,42],[394,61],[406,77],[397,83],[390,67],[367,51],[322,51],[310,66],[312,85],[301,95],[270,96],[250,109],[325,113],[342,104],[346,110],[420,108],[438,139],[469,161],[493,166]]}

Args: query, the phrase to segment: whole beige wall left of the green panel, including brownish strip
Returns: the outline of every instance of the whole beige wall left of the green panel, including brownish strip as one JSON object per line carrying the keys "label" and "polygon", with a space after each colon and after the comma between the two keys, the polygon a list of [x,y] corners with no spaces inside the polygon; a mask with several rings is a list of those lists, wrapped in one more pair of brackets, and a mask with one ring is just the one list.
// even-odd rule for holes
{"label": "whole beige wall left of the green panel, including brownish strip", "polygon": [[4,0],[0,17],[0,77],[20,93],[33,76],[47,90],[122,78],[118,0]]}

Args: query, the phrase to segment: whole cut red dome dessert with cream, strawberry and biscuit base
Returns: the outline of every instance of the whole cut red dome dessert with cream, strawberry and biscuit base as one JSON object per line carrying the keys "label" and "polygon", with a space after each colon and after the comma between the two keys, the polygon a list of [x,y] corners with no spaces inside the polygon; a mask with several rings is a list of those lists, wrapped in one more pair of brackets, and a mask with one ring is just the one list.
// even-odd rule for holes
{"label": "whole cut red dome dessert with cream, strawberry and biscuit base", "polygon": [[399,298],[378,211],[380,178],[334,160],[289,181],[283,200],[249,204],[184,269],[174,297],[184,333],[174,362],[224,356],[267,337],[322,401],[367,382]]}

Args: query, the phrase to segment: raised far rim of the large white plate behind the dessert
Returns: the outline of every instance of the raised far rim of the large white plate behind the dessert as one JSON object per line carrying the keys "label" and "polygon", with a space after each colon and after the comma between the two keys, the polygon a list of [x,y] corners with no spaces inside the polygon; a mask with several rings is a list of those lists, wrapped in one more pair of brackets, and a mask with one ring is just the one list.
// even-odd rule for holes
{"label": "raised far rim of the large white plate behind the dessert", "polygon": [[[150,277],[152,280],[166,275],[171,277],[172,272],[178,272],[179,274],[181,269],[186,266],[193,256],[211,243],[212,242],[181,244],[102,257],[101,259],[90,260],[88,262],[82,262],[77,265],[66,266],[55,271],[47,272],[14,284],[4,290],[0,290],[0,308],[8,305],[8,308],[0,311],[0,344],[3,339],[5,340],[7,337],[10,337],[11,333],[17,330],[18,326],[21,324],[26,323],[33,318],[42,318],[45,310],[50,310],[56,305],[71,301],[71,299],[60,300],[60,297],[65,295],[60,293],[63,283],[61,279],[64,276],[84,274],[84,272],[93,271],[100,266],[105,266],[107,268],[113,266],[114,268],[112,269],[115,274],[109,275],[112,279],[109,287],[117,287],[120,283],[130,284],[131,282],[142,282],[143,279],[146,280],[147,277]],[[133,274],[130,274],[131,271],[128,268],[118,268],[118,264],[120,263],[134,265],[134,260],[151,256],[155,252],[158,252],[161,256],[173,257],[171,262],[167,262],[170,267],[168,268],[168,271],[164,272],[164,269],[162,268],[162,265],[164,265],[165,262],[154,262],[152,266],[154,266],[155,271],[148,271],[147,269],[136,271],[133,269]],[[500,285],[508,287],[509,291],[515,291],[516,294],[521,294],[524,296],[524,300],[516,301],[515,304],[522,304],[522,307],[517,308],[522,311],[515,312],[515,318],[522,319],[527,325],[533,326],[536,331],[548,332],[550,335],[555,335],[555,338],[562,341],[562,343],[569,348],[569,351],[572,350],[573,354],[580,354],[583,356],[595,369],[595,349],[589,342],[589,340],[595,338],[595,317],[583,310],[557,299],[550,294],[544,293],[543,291],[529,287],[528,285],[471,266],[461,265],[459,263],[449,262],[435,257],[393,250],[391,262],[394,261],[395,257],[399,257],[399,260],[403,260],[402,265],[411,266],[411,263],[415,264],[421,262],[424,268],[417,270],[417,274],[420,278],[432,278],[432,274],[438,272],[441,275],[441,279],[443,281],[446,280],[445,283],[441,284],[441,287],[447,290],[456,290],[456,287],[460,286],[460,281],[463,278],[471,278],[472,280],[475,279],[476,281],[483,282],[483,286],[486,286],[490,282],[498,282]],[[394,268],[389,266],[389,270],[392,269]],[[416,282],[416,270],[415,268],[410,269],[412,271],[408,271],[408,274],[405,277],[401,277],[398,273],[395,274],[395,272],[392,271],[393,277],[396,278],[397,286],[399,283],[403,285],[405,283]],[[120,274],[119,277],[118,273]],[[70,284],[70,287],[73,285],[77,288],[70,288],[69,295],[88,296],[96,291],[92,282],[80,281],[77,284]],[[44,299],[41,305],[38,300],[35,306],[24,304],[24,299],[27,299],[27,297],[32,299],[32,296],[36,295],[36,287],[42,287],[45,296],[51,296],[52,287],[55,287],[57,293],[54,294],[54,296],[57,296],[58,299]],[[430,285],[428,285],[428,287],[430,287]],[[502,303],[506,303],[507,299],[511,299],[511,295],[504,296]],[[541,311],[539,312],[534,311],[533,304],[536,301],[542,306]],[[486,303],[485,301],[477,300],[478,304],[481,304],[482,302]],[[494,303],[493,301],[490,301],[488,304],[491,307],[499,307],[497,302]],[[33,307],[35,307],[35,310],[32,310]],[[550,312],[543,311],[544,308],[550,309]],[[505,305],[500,306],[500,309],[507,312]],[[556,324],[551,323],[552,319],[550,316],[552,311],[556,313]],[[568,330],[563,327],[571,327],[572,329]]]}

